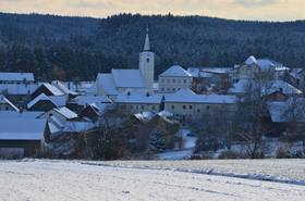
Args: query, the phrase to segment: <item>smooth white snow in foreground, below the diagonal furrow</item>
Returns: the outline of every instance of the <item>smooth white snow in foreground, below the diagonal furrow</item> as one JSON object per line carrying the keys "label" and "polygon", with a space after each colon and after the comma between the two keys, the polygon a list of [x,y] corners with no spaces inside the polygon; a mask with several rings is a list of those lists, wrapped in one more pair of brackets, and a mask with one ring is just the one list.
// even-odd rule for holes
{"label": "smooth white snow in foreground, below the diagonal furrow", "polygon": [[[290,167],[298,168],[304,162],[293,164]],[[0,200],[303,200],[305,196],[302,185],[81,161],[0,161]]]}

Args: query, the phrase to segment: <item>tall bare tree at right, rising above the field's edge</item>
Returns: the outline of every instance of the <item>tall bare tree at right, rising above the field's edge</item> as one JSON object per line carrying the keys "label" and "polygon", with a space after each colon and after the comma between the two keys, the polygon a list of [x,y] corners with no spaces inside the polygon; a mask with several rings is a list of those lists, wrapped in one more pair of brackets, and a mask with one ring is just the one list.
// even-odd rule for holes
{"label": "tall bare tree at right, rising above the field's edge", "polygon": [[272,87],[270,80],[253,80],[244,85],[245,95],[239,102],[237,123],[240,131],[236,134],[246,142],[251,158],[261,158],[258,152],[265,145],[264,136],[270,133],[266,124],[269,116],[267,95]]}

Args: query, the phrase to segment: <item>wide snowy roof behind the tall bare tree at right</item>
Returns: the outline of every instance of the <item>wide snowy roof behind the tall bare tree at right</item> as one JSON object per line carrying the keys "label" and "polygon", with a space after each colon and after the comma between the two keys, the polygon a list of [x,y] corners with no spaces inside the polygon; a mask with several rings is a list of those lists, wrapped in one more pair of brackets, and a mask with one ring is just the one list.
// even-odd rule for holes
{"label": "wide snowy roof behind the tall bare tree at right", "polygon": [[[267,89],[269,93],[272,93],[274,91],[279,91],[280,89],[283,90],[283,93],[285,95],[302,95],[303,92],[292,85],[283,81],[283,80],[270,80],[270,88]],[[254,83],[254,81],[253,81]],[[239,83],[233,84],[233,88],[230,89],[230,92],[232,93],[244,93],[245,92],[245,86],[248,85],[248,80],[240,80]],[[261,89],[265,90],[265,89]]]}

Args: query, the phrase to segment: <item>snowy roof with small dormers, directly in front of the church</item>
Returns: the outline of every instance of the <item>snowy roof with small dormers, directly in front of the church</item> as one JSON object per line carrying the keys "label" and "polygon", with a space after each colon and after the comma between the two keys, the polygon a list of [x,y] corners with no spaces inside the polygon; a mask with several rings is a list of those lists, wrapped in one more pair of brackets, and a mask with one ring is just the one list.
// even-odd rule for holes
{"label": "snowy roof with small dormers, directly in front of the church", "polygon": [[148,89],[126,89],[117,97],[115,102],[159,104],[161,103],[162,97],[160,93],[149,93]]}

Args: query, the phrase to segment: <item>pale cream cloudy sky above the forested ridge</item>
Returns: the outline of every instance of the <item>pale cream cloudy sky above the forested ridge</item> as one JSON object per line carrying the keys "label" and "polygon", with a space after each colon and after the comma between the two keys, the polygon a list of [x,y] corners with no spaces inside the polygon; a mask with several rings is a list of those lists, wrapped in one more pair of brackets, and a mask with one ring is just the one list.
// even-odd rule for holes
{"label": "pale cream cloudy sky above the forested ridge", "polygon": [[0,0],[0,12],[107,17],[113,14],[203,15],[249,21],[305,20],[304,0]]}

